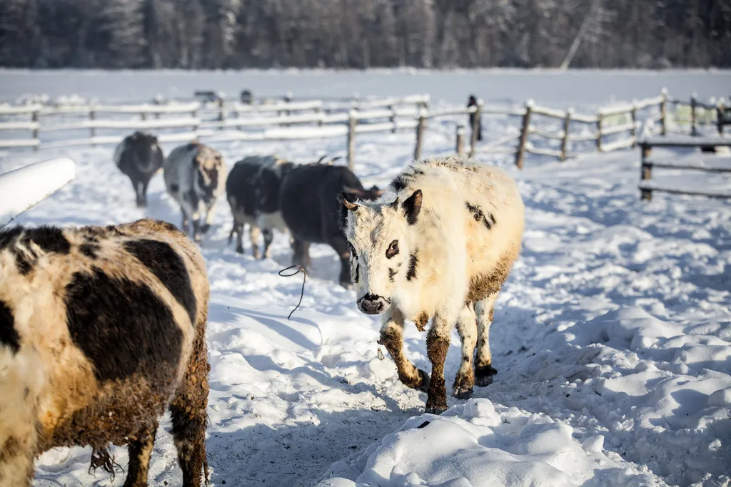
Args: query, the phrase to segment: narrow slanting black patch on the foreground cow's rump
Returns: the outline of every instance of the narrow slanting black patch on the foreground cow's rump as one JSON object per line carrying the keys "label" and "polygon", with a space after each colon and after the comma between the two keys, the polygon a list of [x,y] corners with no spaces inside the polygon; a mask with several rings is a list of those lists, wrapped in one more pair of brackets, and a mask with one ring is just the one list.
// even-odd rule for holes
{"label": "narrow slanting black patch on the foreground cow's rump", "polygon": [[124,248],[150,269],[167,291],[173,294],[188,312],[192,326],[195,326],[195,294],[181,256],[170,245],[157,240],[130,240],[124,242]]}

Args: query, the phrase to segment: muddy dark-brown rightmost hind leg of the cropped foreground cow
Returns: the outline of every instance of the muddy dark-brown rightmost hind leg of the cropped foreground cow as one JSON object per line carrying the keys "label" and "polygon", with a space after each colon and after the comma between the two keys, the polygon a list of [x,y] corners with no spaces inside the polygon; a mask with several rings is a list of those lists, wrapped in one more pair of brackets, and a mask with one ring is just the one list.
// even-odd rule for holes
{"label": "muddy dark-brown rightmost hind leg of the cropped foreground cow", "polygon": [[205,324],[200,324],[186,375],[170,404],[173,440],[183,470],[183,487],[200,487],[201,472],[208,483],[205,458],[205,408],[208,405],[208,364]]}

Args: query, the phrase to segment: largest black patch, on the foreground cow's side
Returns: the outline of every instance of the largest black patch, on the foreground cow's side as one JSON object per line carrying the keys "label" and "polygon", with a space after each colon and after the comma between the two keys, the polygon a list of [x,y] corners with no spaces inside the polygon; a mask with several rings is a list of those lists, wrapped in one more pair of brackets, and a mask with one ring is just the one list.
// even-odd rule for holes
{"label": "largest black patch, on the foreground cow's side", "polygon": [[75,272],[64,303],[69,334],[94,364],[97,380],[136,373],[153,385],[172,379],[183,332],[167,304],[147,285],[113,279],[94,267],[90,274]]}

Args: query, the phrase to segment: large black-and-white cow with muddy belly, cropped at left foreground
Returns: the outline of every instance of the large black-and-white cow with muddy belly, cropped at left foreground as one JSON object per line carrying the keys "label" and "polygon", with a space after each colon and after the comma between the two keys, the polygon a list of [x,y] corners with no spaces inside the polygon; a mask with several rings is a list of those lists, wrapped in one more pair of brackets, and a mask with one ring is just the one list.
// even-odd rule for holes
{"label": "large black-and-white cow with muddy belly, cropped at left foreground", "polygon": [[208,277],[170,223],[0,230],[0,486],[29,486],[34,458],[128,445],[125,486],[146,486],[170,410],[183,486],[205,475]]}

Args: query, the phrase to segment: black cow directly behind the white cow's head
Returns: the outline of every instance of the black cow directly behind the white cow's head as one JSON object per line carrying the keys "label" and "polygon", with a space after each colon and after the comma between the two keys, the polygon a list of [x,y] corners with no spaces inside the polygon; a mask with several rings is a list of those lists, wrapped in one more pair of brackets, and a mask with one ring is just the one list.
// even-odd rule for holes
{"label": "black cow directly behind the white cow's head", "polygon": [[292,169],[281,183],[279,208],[294,239],[292,264],[311,265],[309,245],[326,243],[340,257],[340,284],[350,287],[350,249],[341,229],[338,195],[345,192],[352,201],[376,199],[384,191],[377,186],[363,188],[360,180],[344,166],[308,164]]}

